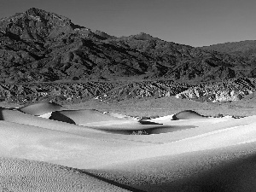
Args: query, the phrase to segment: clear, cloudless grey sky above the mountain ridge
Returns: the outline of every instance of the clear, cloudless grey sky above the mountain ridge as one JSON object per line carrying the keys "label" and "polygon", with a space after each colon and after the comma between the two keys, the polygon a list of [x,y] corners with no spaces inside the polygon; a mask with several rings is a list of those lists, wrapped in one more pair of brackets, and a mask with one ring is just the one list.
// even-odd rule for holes
{"label": "clear, cloudless grey sky above the mountain ridge", "polygon": [[32,7],[116,37],[146,32],[195,47],[256,40],[255,0],[0,0],[0,18]]}

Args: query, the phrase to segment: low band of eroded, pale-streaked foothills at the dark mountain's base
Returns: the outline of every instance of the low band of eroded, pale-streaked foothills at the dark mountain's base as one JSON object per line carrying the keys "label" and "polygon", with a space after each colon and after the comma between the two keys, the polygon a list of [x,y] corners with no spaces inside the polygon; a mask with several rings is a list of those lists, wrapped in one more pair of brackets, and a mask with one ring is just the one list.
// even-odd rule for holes
{"label": "low band of eroded, pale-streaked foothills at the dark mountain's base", "polygon": [[[238,101],[255,94],[256,79],[230,79],[219,83],[184,84],[172,80],[139,82],[87,82],[49,84],[0,84],[0,102],[40,100],[76,103],[88,100],[119,102],[129,99],[176,96],[197,102]],[[253,95],[254,94],[254,95]]]}

